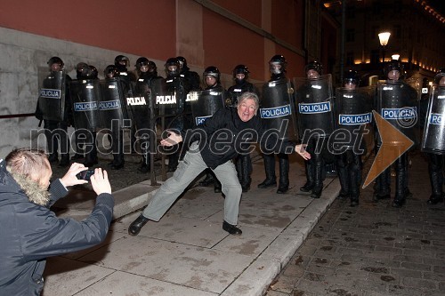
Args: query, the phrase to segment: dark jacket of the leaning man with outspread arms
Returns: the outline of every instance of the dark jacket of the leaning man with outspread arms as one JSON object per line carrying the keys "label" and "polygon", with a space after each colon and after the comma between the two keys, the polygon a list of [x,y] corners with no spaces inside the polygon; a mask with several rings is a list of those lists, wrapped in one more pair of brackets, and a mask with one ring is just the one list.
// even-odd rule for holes
{"label": "dark jacket of the leaning man with outspread arms", "polygon": [[288,140],[278,140],[278,134],[266,130],[263,120],[254,116],[243,122],[237,108],[226,107],[216,111],[198,128],[182,135],[184,143],[199,140],[199,150],[204,162],[214,169],[230,161],[254,143],[260,143],[264,152],[287,153],[295,151],[295,144]]}

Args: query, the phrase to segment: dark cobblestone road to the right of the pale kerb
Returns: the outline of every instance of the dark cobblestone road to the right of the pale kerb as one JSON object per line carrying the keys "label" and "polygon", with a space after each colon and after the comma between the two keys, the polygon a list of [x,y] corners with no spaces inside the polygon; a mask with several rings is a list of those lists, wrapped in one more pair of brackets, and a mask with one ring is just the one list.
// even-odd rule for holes
{"label": "dark cobblestone road to the right of the pale kerb", "polygon": [[336,199],[266,295],[445,295],[445,206],[426,204],[431,188],[420,153],[409,178],[413,196],[401,209],[373,203],[372,186],[358,207]]}

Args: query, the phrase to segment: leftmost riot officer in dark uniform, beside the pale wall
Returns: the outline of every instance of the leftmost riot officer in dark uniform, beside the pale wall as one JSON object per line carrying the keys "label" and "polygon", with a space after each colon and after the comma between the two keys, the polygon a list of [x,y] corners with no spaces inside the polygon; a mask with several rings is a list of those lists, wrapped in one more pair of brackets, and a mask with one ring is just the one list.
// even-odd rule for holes
{"label": "leftmost riot officer in dark uniform, beside the pale wall", "polygon": [[[52,57],[47,62],[49,68],[49,74],[43,81],[43,88],[52,89],[57,80],[57,73],[61,72],[65,66],[65,63],[59,57]],[[44,135],[46,137],[46,142],[48,146],[48,153],[50,156],[48,160],[50,163],[58,163],[58,148],[61,150],[61,162],[60,166],[69,165],[69,137],[68,137],[68,127],[70,124],[70,119],[72,117],[71,100],[69,97],[69,82],[72,80],[69,75],[63,77],[65,79],[65,108],[61,110],[63,112],[61,120],[44,119],[44,117],[51,117],[49,114],[44,114],[44,112],[58,112],[60,110],[44,110],[40,105],[40,100],[37,103],[36,117],[38,119],[44,119]],[[60,141],[60,147],[59,147]]]}

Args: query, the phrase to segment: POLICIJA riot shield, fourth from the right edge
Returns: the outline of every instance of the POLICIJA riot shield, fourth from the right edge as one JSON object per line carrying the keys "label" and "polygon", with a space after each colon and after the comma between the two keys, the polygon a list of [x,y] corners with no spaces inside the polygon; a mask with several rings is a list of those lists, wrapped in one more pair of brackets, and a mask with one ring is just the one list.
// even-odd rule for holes
{"label": "POLICIJA riot shield, fourth from the right edge", "polygon": [[331,75],[322,75],[317,79],[294,78],[294,84],[300,139],[328,137],[334,131]]}

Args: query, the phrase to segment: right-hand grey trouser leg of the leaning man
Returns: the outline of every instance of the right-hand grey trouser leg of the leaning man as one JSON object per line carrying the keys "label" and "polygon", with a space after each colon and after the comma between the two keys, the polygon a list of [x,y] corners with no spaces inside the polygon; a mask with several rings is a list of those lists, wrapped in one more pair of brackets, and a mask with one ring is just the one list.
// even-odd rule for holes
{"label": "right-hand grey trouser leg of the leaning man", "polygon": [[[241,200],[242,194],[235,165],[231,161],[228,161],[225,164],[217,166],[213,171],[216,178],[221,181],[223,194],[225,196],[224,221],[231,226],[235,226],[238,224],[239,201]],[[229,231],[227,229],[225,230]]]}

